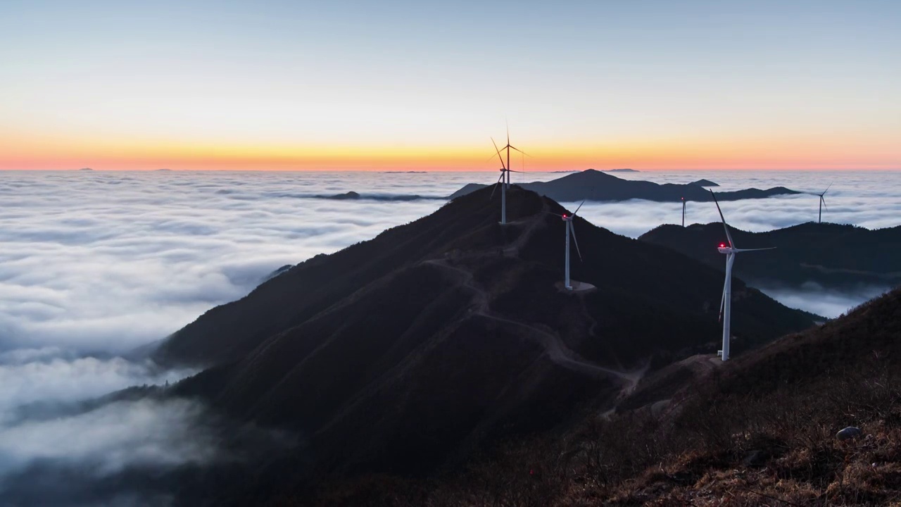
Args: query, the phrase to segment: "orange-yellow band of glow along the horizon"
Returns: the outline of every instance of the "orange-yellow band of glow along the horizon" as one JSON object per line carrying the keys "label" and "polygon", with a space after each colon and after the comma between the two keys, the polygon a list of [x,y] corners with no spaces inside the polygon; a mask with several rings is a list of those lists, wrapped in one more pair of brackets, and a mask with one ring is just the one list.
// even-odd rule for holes
{"label": "orange-yellow band of glow along the horizon", "polygon": [[[495,171],[493,148],[426,145],[287,145],[177,143],[5,137],[0,170],[146,171]],[[571,145],[520,144],[514,170],[560,171],[631,168],[653,170],[901,169],[890,143],[845,139],[773,142],[769,139],[678,139]],[[537,143],[536,143],[537,144]],[[530,147],[532,146],[532,147]],[[867,153],[865,156],[857,153]]]}

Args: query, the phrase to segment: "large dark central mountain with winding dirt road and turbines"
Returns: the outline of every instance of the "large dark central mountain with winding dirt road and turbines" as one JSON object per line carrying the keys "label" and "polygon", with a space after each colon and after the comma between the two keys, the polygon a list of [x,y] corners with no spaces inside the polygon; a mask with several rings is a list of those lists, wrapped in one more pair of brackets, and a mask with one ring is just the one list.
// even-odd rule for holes
{"label": "large dark central mountain with winding dirt road and turbines", "polygon": [[[719,272],[577,218],[573,277],[597,290],[562,292],[565,229],[551,212],[565,210],[514,187],[514,221],[500,226],[489,193],[297,264],[155,359],[207,366],[179,395],[304,436],[303,453],[254,472],[302,481],[458,463],[613,406],[649,367],[715,350]],[[742,281],[733,290],[738,350],[812,325]]]}

